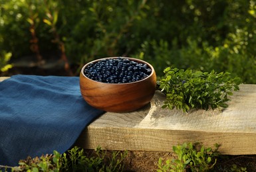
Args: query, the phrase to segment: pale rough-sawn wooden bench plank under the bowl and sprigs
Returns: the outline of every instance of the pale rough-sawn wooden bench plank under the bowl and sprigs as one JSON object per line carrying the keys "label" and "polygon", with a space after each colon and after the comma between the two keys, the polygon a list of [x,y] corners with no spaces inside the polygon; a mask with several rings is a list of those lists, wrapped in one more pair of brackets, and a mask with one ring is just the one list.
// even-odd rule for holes
{"label": "pale rough-sawn wooden bench plank under the bowl and sprigs", "polygon": [[[0,77],[0,81],[7,77]],[[161,108],[164,95],[156,91],[150,104],[127,113],[106,112],[80,134],[76,145],[106,150],[172,151],[184,142],[221,146],[227,155],[256,154],[256,85],[239,85],[224,110]]]}

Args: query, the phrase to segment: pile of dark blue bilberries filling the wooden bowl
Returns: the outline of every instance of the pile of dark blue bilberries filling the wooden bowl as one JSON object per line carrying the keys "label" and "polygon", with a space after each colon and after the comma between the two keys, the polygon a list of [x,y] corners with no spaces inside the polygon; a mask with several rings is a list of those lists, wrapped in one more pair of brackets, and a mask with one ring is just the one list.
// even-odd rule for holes
{"label": "pile of dark blue bilberries filling the wooden bowl", "polygon": [[128,58],[108,58],[88,64],[86,77],[102,83],[131,83],[150,75],[151,68]]}

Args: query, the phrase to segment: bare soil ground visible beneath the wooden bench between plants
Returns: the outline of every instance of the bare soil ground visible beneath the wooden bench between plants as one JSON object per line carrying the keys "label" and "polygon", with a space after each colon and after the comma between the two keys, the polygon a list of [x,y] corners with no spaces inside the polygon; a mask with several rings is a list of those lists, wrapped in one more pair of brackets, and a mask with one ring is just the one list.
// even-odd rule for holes
{"label": "bare soil ground visible beneath the wooden bench between plants", "polygon": [[[93,150],[86,150],[88,155],[94,156]],[[106,151],[106,157],[111,157],[112,152]],[[161,151],[128,151],[124,160],[124,171],[126,172],[150,172],[158,169],[158,160],[160,157],[165,162],[168,159],[177,159],[177,155],[172,152]],[[236,165],[236,167],[234,167]],[[217,163],[211,171],[256,171],[256,155],[219,155]],[[232,169],[233,168],[233,169]],[[188,171],[190,171],[188,169]]]}

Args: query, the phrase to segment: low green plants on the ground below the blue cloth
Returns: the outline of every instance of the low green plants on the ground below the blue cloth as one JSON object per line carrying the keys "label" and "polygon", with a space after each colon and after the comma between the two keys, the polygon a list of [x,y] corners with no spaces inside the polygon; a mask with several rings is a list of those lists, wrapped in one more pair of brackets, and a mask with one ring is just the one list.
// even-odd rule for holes
{"label": "low green plants on the ground below the blue cloth", "polygon": [[123,171],[124,160],[128,151],[113,151],[112,155],[106,157],[106,150],[96,148],[95,155],[89,156],[82,148],[74,147],[66,153],[53,151],[53,155],[42,155],[41,157],[19,161],[18,167],[5,167],[11,171]]}

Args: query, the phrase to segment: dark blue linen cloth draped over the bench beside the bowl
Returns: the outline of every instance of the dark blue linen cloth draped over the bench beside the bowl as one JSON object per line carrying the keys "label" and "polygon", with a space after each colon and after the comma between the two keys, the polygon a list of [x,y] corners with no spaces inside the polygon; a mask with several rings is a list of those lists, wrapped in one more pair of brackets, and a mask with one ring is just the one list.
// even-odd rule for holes
{"label": "dark blue linen cloth draped over the bench beside the bowl", "polygon": [[0,165],[64,153],[102,113],[82,99],[79,77],[13,75],[0,82]]}

